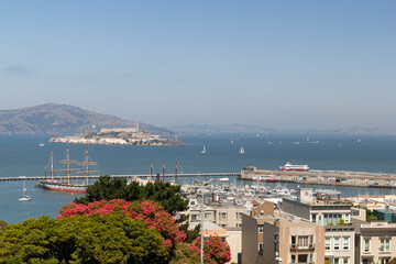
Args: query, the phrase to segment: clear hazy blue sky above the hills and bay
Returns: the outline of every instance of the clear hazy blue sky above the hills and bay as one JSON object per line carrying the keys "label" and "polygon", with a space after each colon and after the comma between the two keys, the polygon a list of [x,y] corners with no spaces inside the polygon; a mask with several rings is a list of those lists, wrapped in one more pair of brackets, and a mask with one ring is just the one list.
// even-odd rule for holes
{"label": "clear hazy blue sky above the hills and bay", "polygon": [[395,1],[1,1],[0,109],[396,127]]}

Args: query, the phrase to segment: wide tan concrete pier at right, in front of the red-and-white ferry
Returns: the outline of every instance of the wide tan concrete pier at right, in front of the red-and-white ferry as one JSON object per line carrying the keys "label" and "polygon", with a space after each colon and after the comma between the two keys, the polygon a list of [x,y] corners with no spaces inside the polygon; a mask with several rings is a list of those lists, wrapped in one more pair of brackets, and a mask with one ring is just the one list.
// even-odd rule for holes
{"label": "wide tan concrete pier at right, in front of the red-and-white ferry", "polygon": [[240,179],[255,180],[260,176],[274,176],[276,182],[300,183],[331,186],[354,186],[396,188],[396,175],[364,173],[364,172],[334,172],[334,170],[266,170],[254,166],[244,167]]}

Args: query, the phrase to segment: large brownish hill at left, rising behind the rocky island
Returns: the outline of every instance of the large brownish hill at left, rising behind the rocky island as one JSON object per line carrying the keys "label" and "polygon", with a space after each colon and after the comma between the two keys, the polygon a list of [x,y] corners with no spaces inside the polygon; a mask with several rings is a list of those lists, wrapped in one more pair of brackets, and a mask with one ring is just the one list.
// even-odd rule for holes
{"label": "large brownish hill at left, rising behind the rocky island", "polygon": [[152,134],[174,134],[167,129],[65,105],[46,103],[0,111],[0,133],[76,134],[81,131],[96,132],[101,128],[134,128],[136,124],[140,130],[146,130]]}

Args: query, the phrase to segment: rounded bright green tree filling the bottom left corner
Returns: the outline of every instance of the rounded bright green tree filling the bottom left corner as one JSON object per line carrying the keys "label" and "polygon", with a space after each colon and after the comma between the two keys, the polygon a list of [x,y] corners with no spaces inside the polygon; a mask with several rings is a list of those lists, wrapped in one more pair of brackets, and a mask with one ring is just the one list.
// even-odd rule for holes
{"label": "rounded bright green tree filling the bottom left corner", "polygon": [[124,213],[41,217],[0,231],[0,263],[168,263],[164,239]]}

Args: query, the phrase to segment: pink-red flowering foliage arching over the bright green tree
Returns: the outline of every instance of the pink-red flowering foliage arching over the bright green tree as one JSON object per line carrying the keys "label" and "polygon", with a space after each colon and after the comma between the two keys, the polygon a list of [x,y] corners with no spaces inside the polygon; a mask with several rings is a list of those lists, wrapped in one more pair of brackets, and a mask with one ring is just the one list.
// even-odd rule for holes
{"label": "pink-red flowering foliage arching over the bright green tree", "polygon": [[[184,243],[185,232],[177,228],[175,218],[166,212],[162,206],[154,201],[125,201],[113,199],[100,200],[86,205],[75,204],[64,206],[58,218],[70,218],[74,216],[88,216],[98,213],[106,216],[110,213],[125,213],[131,219],[147,223],[147,228],[154,229],[163,238],[163,246],[168,252],[175,253],[175,261],[179,264],[200,262],[200,237],[193,243]],[[209,237],[204,243],[205,263],[222,264],[231,260],[230,246],[222,242],[219,237]]]}

